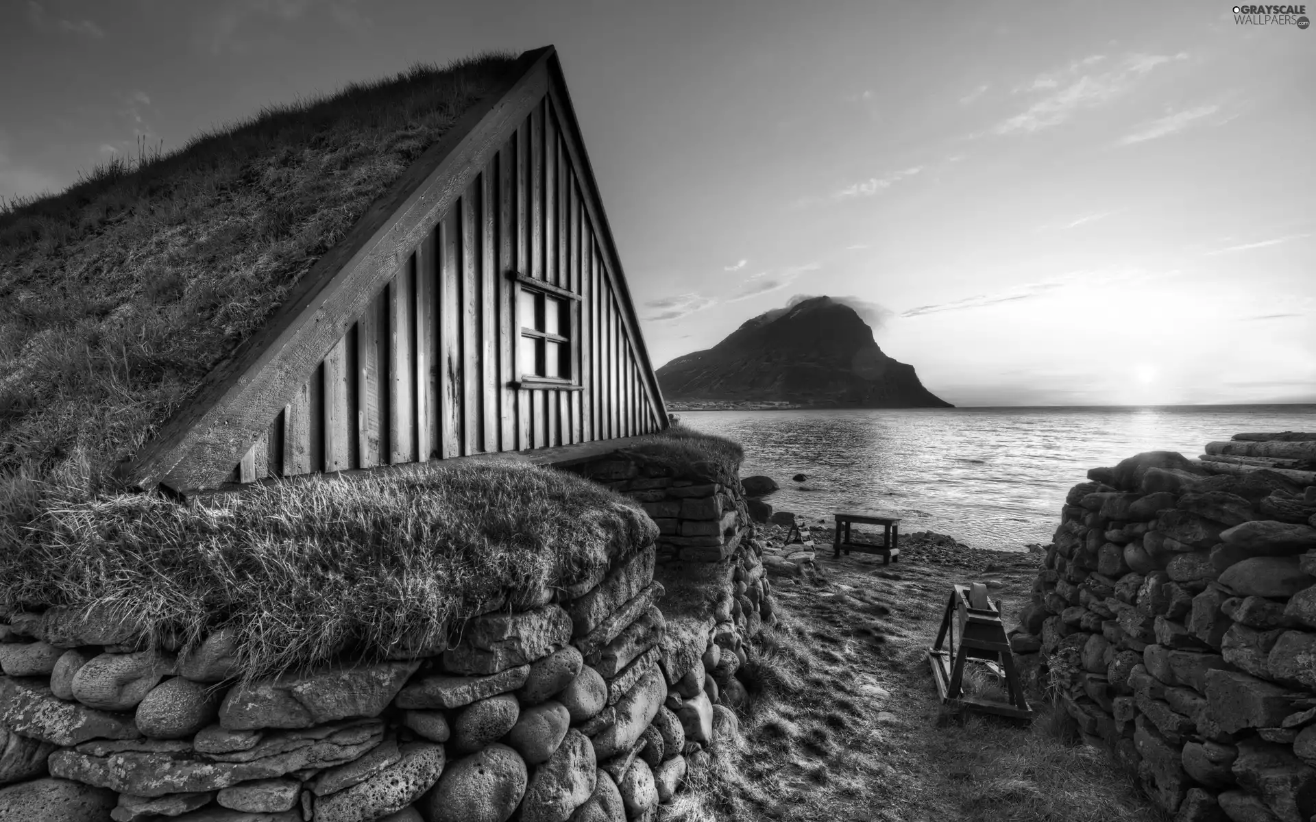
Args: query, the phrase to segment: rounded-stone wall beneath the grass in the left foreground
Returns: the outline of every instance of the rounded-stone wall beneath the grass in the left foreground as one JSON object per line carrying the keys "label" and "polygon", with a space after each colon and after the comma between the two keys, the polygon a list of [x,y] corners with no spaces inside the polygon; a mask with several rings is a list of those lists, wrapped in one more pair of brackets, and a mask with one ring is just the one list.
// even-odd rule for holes
{"label": "rounded-stone wall beneath the grass in the left foreground", "polygon": [[0,623],[0,818],[655,819],[736,733],[744,638],[771,613],[757,546],[732,537],[678,547],[717,552],[733,585],[680,631],[654,580],[669,539],[529,610],[476,616],[449,647],[274,680],[243,683],[224,631],[175,655],[71,630],[58,609],[14,614]]}

